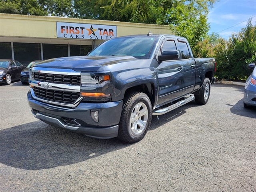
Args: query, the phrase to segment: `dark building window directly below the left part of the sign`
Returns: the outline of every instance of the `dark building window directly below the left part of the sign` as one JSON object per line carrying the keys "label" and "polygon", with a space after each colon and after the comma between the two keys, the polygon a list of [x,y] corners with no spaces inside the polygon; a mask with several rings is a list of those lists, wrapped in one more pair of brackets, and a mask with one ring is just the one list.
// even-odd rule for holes
{"label": "dark building window directly below the left part of the sign", "polygon": [[58,58],[58,57],[67,57],[68,45],[43,44],[43,55],[44,55],[44,60]]}

